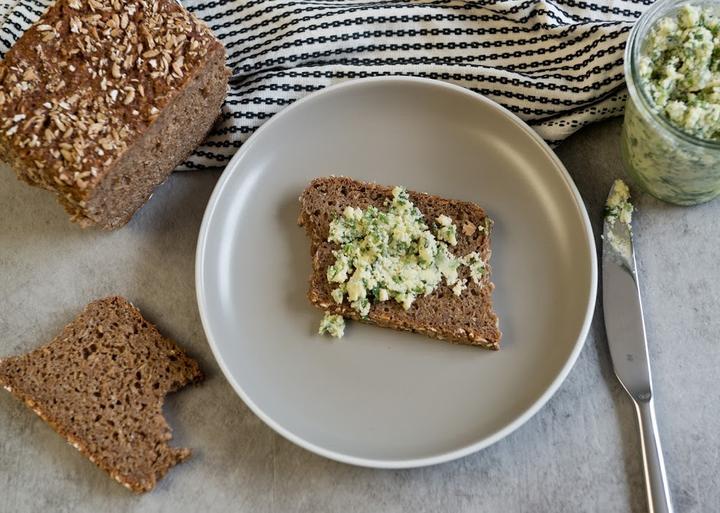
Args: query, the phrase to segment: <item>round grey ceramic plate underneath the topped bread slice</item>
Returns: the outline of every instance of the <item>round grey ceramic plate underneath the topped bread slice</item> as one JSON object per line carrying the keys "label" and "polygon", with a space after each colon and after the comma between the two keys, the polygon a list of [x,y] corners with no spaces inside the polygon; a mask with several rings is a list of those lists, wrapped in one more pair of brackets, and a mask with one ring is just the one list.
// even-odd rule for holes
{"label": "round grey ceramic plate underneath the topped bread slice", "polygon": [[[317,335],[298,196],[331,174],[489,212],[499,352],[359,323]],[[207,338],[247,405],[306,449],[387,468],[464,456],[528,420],[575,362],[597,286],[587,213],[547,145],[482,96],[411,78],[347,82],[267,122],[210,199],[196,265]]]}

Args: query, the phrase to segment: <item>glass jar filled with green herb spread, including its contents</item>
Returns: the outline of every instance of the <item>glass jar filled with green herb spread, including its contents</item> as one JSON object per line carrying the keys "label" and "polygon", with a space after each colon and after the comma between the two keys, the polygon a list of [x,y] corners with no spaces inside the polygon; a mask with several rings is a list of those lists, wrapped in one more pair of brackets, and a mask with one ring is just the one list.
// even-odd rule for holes
{"label": "glass jar filled with green herb spread, including its contents", "polygon": [[678,205],[720,195],[720,3],[656,2],[630,34],[625,77],[630,176]]}

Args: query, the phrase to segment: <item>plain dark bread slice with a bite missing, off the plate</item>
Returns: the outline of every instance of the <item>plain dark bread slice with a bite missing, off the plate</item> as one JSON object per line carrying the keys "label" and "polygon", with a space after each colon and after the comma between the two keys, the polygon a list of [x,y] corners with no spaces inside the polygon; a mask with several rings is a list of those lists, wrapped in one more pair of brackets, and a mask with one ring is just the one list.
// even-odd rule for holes
{"label": "plain dark bread slice with a bite missing, off the plate", "polygon": [[197,362],[121,297],[90,303],[49,344],[0,359],[0,385],[111,477],[151,490],[190,456],[168,446],[168,392],[201,380]]}

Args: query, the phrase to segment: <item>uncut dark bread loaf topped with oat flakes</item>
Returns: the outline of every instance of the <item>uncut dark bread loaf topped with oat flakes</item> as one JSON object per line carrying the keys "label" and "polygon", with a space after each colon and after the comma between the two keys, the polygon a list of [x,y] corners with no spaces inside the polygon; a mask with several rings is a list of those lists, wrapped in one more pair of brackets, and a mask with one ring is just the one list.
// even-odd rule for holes
{"label": "uncut dark bread loaf topped with oat flakes", "polygon": [[174,0],[57,0],[0,61],[0,160],[118,228],[202,142],[225,50]]}

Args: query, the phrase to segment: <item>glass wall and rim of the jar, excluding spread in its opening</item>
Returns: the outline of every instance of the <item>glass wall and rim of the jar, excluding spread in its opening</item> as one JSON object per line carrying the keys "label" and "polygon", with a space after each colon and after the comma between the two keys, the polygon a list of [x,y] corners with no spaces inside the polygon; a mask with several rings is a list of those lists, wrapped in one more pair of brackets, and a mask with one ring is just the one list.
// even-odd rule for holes
{"label": "glass wall and rim of the jar, excluding spread in its opening", "polygon": [[638,63],[647,35],[661,18],[683,5],[717,9],[717,0],[659,0],[638,20],[625,48],[628,101],[622,158],[630,177],[653,196],[696,205],[720,195],[720,141],[690,135],[659,113],[640,84]]}

